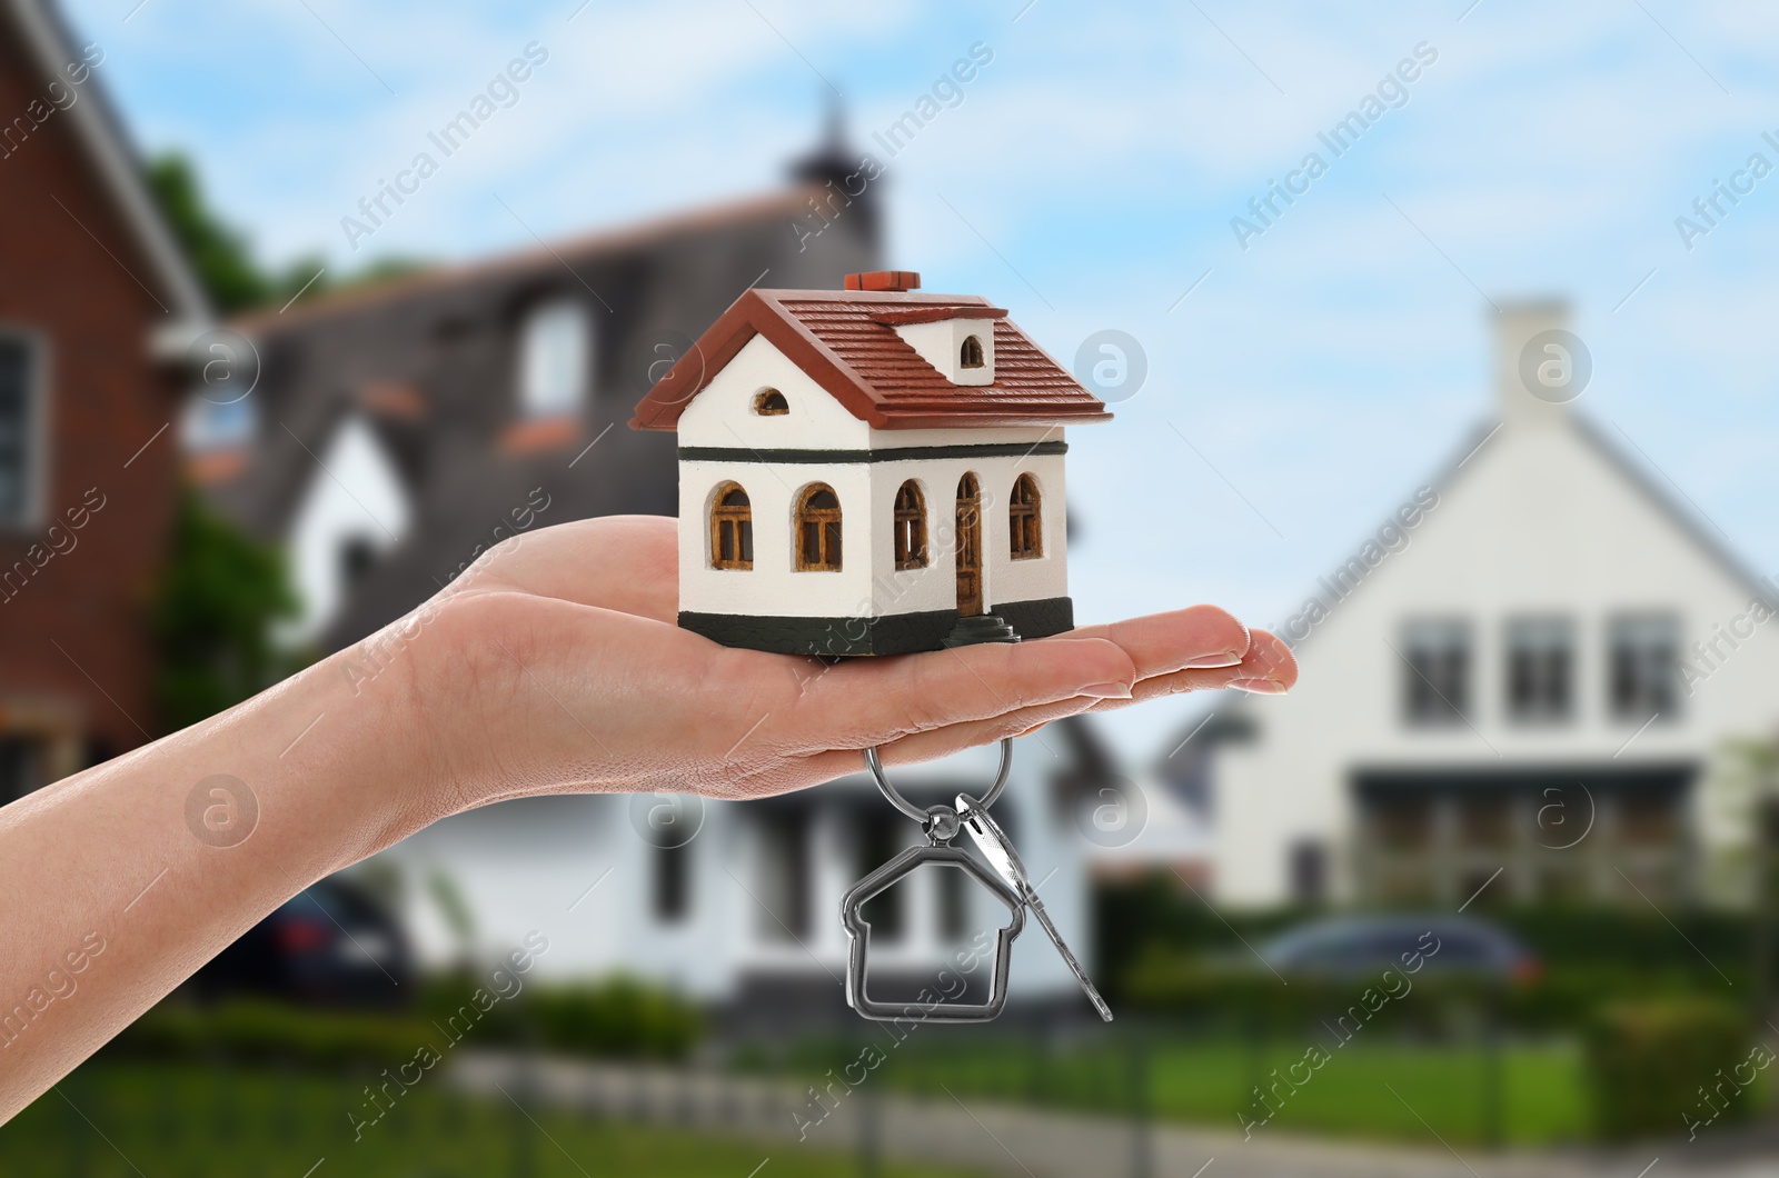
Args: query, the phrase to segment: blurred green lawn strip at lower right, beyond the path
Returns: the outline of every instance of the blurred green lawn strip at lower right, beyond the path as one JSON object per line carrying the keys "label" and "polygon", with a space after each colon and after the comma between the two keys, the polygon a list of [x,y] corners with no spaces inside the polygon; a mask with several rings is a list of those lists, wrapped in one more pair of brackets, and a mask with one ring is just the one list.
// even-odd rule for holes
{"label": "blurred green lawn strip at lower right, beyond the path", "polygon": [[[888,1084],[902,1091],[943,1093],[943,1084],[959,1096],[1117,1116],[1128,1116],[1142,1091],[1137,1057],[1128,1048],[909,1046],[891,1052],[886,1066]],[[1265,1116],[1252,1091],[1261,1085],[1276,1109],[1256,1130],[1261,1134],[1432,1141],[1432,1126],[1446,1141],[1482,1142],[1491,1137],[1493,1116],[1501,1142],[1535,1146],[1580,1141],[1589,1130],[1576,1045],[1512,1045],[1491,1061],[1480,1048],[1356,1039],[1329,1052],[1327,1062],[1295,1093],[1281,1085],[1284,1098],[1274,1100],[1270,1069],[1290,1077],[1286,1068],[1300,1064],[1308,1046],[1309,1039],[1263,1046],[1236,1039],[1156,1039],[1146,1045],[1146,1100],[1162,1119],[1233,1130],[1238,1112],[1249,1119]],[[1302,1066],[1297,1075],[1304,1075]]]}

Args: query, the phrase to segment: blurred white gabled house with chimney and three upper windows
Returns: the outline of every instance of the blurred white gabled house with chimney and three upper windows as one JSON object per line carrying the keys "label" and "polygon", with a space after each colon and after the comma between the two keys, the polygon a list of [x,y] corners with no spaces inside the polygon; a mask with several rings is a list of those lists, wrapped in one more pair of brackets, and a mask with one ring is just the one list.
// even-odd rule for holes
{"label": "blurred white gabled house with chimney and three upper windows", "polygon": [[1213,810],[1226,902],[1745,886],[1726,742],[1779,719],[1779,591],[1615,425],[1528,391],[1560,306],[1498,322],[1498,420],[1283,626],[1297,689],[1171,758]]}

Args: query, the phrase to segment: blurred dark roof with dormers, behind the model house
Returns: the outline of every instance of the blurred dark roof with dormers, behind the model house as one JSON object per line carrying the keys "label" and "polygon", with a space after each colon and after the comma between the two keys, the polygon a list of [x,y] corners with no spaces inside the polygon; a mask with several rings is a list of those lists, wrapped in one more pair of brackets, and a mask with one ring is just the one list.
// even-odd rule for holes
{"label": "blurred dark roof with dormers, behind the model house", "polygon": [[856,171],[836,125],[770,196],[238,320],[258,386],[194,397],[185,445],[208,498],[286,546],[294,637],[356,642],[525,527],[674,514],[672,438],[623,422],[751,285],[877,265],[877,194],[838,192]]}

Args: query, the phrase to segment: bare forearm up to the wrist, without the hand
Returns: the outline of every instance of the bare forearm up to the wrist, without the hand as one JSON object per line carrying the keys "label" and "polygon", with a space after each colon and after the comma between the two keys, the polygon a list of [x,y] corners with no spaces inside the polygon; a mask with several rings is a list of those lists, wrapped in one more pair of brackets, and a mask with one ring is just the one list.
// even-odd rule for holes
{"label": "bare forearm up to the wrist, without the hand", "polygon": [[354,694],[342,658],[0,810],[0,1121],[294,893],[436,817],[393,738],[404,701]]}

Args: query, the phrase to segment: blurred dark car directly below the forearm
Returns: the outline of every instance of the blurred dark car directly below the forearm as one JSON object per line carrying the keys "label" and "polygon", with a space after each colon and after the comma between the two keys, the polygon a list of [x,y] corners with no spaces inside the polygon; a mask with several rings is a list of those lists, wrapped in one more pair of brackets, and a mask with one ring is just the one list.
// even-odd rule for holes
{"label": "blurred dark car directly below the forearm", "polygon": [[263,995],[315,1005],[388,1007],[413,995],[413,950],[361,888],[322,879],[247,929],[197,972],[205,998]]}

